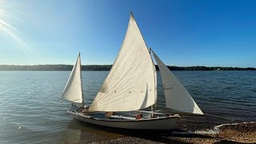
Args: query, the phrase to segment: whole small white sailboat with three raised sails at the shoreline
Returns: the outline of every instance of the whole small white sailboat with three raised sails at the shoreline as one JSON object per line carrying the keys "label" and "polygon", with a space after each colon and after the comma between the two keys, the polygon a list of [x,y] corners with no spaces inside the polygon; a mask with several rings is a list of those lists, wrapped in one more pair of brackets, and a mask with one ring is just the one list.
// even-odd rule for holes
{"label": "whole small white sailboat with three raised sails at the shoreline", "polygon": [[[153,57],[162,76],[166,108],[177,114],[154,110],[158,95]],[[67,112],[83,122],[125,129],[169,130],[174,128],[179,114],[203,115],[178,78],[146,46],[131,12],[118,56],[90,106],[84,105],[81,71],[79,53],[62,98],[72,102]]]}

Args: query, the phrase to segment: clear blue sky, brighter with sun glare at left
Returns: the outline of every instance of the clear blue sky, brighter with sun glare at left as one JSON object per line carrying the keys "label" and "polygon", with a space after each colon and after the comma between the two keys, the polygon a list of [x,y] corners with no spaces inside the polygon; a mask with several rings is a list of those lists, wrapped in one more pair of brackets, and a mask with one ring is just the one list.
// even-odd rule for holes
{"label": "clear blue sky, brighter with sun glare at left", "polygon": [[112,64],[132,10],[166,65],[256,67],[256,1],[0,0],[0,64]]}

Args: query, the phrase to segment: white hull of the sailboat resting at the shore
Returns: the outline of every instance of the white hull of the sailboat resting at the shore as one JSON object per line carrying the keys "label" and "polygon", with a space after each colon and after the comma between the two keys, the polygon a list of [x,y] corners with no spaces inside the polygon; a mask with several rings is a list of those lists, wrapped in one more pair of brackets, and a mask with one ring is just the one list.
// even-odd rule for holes
{"label": "white hull of the sailboat resting at the shore", "polygon": [[76,113],[68,110],[75,119],[83,122],[88,122],[100,126],[109,126],[123,129],[139,129],[139,130],[170,130],[174,129],[178,115],[171,115],[162,118],[149,119],[101,119],[91,116]]}

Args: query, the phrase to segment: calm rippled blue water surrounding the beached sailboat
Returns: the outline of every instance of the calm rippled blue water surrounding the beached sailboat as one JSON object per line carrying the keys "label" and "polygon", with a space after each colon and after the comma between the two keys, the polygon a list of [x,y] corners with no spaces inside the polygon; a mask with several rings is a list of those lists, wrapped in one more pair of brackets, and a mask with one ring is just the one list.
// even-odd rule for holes
{"label": "calm rippled blue water surrounding the beached sailboat", "polygon": [[[60,98],[70,71],[0,71],[0,143],[92,142],[122,136],[117,130],[71,118]],[[86,104],[108,71],[82,72]],[[256,71],[174,71],[204,117],[183,117],[178,127],[201,130],[221,123],[256,121]],[[164,106],[158,77],[158,107]]]}

